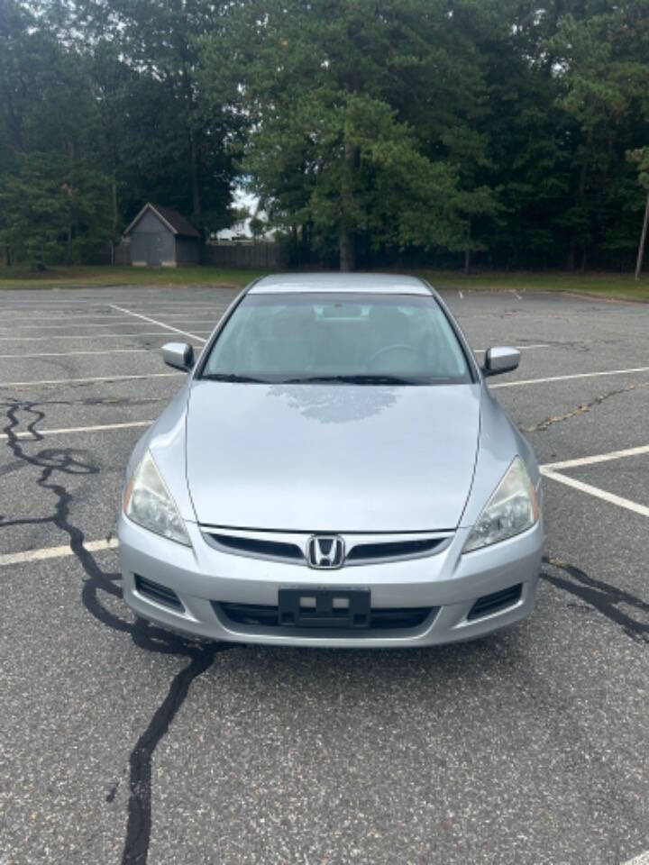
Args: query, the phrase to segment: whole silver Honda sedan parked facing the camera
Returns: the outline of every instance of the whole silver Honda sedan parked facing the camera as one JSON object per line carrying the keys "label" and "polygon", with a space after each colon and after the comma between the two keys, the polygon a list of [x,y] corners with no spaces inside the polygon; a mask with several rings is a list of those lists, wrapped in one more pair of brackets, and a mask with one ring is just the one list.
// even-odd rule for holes
{"label": "whole silver Honda sedan parked facing the camera", "polygon": [[251,283],[138,442],[123,595],[200,637],[295,646],[469,640],[532,612],[538,467],[434,289],[415,277]]}

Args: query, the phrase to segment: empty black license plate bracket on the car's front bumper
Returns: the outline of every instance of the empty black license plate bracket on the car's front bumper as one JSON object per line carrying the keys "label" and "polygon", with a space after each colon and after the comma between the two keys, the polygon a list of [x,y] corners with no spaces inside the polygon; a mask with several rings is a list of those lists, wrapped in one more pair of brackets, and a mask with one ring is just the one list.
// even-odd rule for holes
{"label": "empty black license plate bracket on the car's front bumper", "polygon": [[278,624],[289,628],[369,628],[369,588],[280,588]]}

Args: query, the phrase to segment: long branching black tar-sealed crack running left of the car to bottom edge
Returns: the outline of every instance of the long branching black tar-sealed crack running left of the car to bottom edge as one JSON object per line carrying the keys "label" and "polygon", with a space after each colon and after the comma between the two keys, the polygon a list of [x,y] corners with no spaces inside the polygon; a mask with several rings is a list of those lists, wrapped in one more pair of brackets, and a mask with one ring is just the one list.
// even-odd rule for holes
{"label": "long branching black tar-sealed crack running left of the car to bottom edge", "polygon": [[[121,598],[122,589],[116,582],[120,573],[108,573],[101,569],[95,556],[84,547],[84,533],[69,519],[69,505],[72,495],[62,483],[56,483],[52,476],[59,472],[63,475],[97,474],[99,467],[93,465],[91,455],[87,451],[58,448],[39,451],[34,456],[25,453],[21,440],[16,435],[19,425],[19,412],[32,414],[32,421],[27,429],[32,433],[31,442],[43,440],[36,424],[45,417],[45,413],[36,407],[37,404],[14,400],[6,412],[7,424],[4,432],[6,443],[14,454],[16,461],[41,469],[41,475],[36,481],[42,489],[56,496],[54,513],[41,519],[14,520],[6,522],[0,517],[0,528],[7,525],[51,523],[69,536],[70,548],[84,569],[87,579],[81,592],[83,605],[88,613],[99,622],[120,633],[131,636],[133,643],[145,651],[164,655],[180,655],[187,657],[189,663],[181,669],[169,685],[169,692],[153,714],[146,730],[142,733],[131,751],[129,758],[129,802],[126,821],[126,832],[123,843],[122,865],[145,865],[149,855],[151,842],[151,761],[160,740],[169,731],[178,709],[183,705],[192,682],[209,669],[215,654],[219,651],[238,648],[235,643],[203,643],[193,642],[178,634],[165,631],[162,628],[148,624],[142,619],[130,623],[118,615],[114,615],[101,601],[99,591],[115,598]],[[117,790],[117,784],[111,789],[106,801],[112,802]]]}

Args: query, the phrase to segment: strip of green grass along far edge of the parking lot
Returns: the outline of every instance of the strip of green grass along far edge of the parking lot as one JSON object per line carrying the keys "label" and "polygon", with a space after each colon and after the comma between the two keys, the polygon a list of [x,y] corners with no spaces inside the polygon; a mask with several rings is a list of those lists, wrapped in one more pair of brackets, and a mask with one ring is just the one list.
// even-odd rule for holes
{"label": "strip of green grass along far edge of the parking lot", "polygon": [[[224,268],[52,268],[41,273],[26,268],[0,269],[0,288],[81,288],[93,286],[233,286],[242,287],[266,270]],[[419,270],[436,288],[467,291],[564,291],[578,294],[649,301],[649,275],[635,281],[632,274],[571,273],[567,271],[484,271],[466,276],[457,270]]]}

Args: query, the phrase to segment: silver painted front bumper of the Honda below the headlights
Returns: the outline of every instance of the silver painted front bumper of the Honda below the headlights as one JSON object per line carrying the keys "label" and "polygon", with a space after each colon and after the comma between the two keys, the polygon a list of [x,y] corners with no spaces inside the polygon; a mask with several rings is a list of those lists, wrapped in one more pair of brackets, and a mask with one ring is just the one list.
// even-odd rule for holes
{"label": "silver painted front bumper of the Honda below the headlights", "polygon": [[[441,551],[410,560],[339,570],[301,563],[247,558],[215,550],[197,524],[187,524],[192,547],[184,547],[120,517],[123,596],[144,619],[174,631],[213,640],[287,646],[407,648],[471,640],[530,615],[544,542],[543,520],[527,532],[462,555],[469,529],[459,529]],[[176,593],[184,609],[172,609],[138,591],[135,575]],[[476,600],[521,586],[519,598],[496,612],[469,618]],[[237,625],[213,602],[277,605],[279,588],[370,588],[372,608],[435,608],[414,628],[343,633],[288,627]]]}

